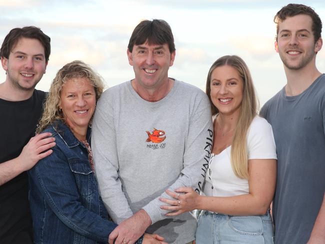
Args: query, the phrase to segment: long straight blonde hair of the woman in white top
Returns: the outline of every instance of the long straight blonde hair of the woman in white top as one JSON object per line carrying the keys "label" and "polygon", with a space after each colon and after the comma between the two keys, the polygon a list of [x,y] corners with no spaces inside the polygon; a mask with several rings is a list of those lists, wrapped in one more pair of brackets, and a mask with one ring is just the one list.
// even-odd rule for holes
{"label": "long straight blonde hair of the woman in white top", "polygon": [[240,104],[240,112],[237,125],[234,129],[231,143],[231,167],[234,174],[239,178],[248,179],[248,152],[247,152],[247,131],[251,121],[257,114],[258,101],[252,78],[246,63],[236,55],[226,55],[218,58],[210,67],[206,79],[206,94],[209,97],[212,114],[218,113],[218,109],[211,100],[211,73],[219,66],[229,65],[235,68],[243,80],[243,96]]}

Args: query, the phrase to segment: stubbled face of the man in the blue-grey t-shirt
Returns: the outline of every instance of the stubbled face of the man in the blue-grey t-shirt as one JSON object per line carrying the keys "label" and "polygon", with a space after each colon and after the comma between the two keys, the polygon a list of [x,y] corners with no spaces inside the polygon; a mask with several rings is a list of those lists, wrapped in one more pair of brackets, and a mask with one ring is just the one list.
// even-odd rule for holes
{"label": "stubbled face of the man in the blue-grey t-shirt", "polygon": [[278,24],[275,49],[288,69],[301,69],[312,63],[322,40],[315,43],[311,30],[312,20],[306,14],[287,17]]}

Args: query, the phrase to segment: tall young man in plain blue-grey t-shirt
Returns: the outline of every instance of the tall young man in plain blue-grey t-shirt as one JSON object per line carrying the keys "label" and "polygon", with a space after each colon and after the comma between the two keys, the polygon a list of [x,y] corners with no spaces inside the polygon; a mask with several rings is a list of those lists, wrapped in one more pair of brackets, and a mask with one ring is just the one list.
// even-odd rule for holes
{"label": "tall young man in plain blue-grey t-shirt", "polygon": [[325,74],[315,65],[321,20],[288,4],[274,17],[287,83],[261,109],[277,149],[275,243],[325,243]]}

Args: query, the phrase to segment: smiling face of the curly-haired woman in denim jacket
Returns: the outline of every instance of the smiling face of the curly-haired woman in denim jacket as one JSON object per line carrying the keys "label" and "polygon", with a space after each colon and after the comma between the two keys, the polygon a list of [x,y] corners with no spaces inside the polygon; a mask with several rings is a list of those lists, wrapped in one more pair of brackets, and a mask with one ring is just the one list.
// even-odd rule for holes
{"label": "smiling face of the curly-haired woman in denim jacket", "polygon": [[71,78],[60,92],[63,117],[72,130],[87,129],[96,105],[95,89],[85,77]]}

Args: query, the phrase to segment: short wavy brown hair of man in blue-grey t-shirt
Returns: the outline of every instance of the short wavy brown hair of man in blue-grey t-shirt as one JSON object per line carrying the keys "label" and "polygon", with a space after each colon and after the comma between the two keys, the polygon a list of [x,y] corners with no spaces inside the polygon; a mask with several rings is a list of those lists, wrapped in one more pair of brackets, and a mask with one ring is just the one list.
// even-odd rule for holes
{"label": "short wavy brown hair of man in blue-grey t-shirt", "polygon": [[306,14],[311,17],[312,25],[311,30],[313,33],[314,41],[321,36],[321,20],[318,14],[309,6],[303,4],[289,3],[282,7],[274,16],[274,22],[276,23],[276,38],[278,34],[278,24],[284,21],[287,17],[293,17],[298,14]]}

